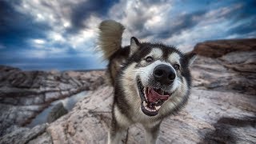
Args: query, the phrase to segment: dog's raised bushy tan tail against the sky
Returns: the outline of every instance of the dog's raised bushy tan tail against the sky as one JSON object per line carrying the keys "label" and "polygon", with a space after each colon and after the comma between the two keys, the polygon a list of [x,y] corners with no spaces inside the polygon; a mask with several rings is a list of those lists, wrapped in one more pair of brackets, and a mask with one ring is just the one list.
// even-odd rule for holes
{"label": "dog's raised bushy tan tail against the sky", "polygon": [[103,52],[104,59],[110,59],[122,46],[122,32],[125,27],[113,20],[101,22],[99,26],[98,46]]}

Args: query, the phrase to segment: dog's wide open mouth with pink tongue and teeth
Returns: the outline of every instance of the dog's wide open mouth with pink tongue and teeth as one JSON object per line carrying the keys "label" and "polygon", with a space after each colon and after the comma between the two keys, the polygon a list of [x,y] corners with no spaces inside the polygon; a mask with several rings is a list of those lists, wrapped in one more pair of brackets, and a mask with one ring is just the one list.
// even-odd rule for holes
{"label": "dog's wide open mouth with pink tongue and teeth", "polygon": [[142,112],[149,116],[157,115],[158,110],[171,94],[162,89],[142,86],[142,82],[139,78],[137,78],[137,83],[139,94],[142,99]]}

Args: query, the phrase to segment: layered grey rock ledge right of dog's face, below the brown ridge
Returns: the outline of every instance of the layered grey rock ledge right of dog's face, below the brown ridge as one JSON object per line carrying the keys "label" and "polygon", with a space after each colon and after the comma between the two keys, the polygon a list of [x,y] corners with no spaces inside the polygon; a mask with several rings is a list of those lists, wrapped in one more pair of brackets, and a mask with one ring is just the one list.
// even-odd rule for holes
{"label": "layered grey rock ledge right of dog's face, below the brown ridge", "polygon": [[[194,84],[202,86],[202,89],[234,90],[242,94],[256,94],[256,50],[247,53],[232,52],[215,59],[198,56],[192,66]],[[241,58],[246,54],[246,58]],[[244,59],[255,61],[248,62]]]}

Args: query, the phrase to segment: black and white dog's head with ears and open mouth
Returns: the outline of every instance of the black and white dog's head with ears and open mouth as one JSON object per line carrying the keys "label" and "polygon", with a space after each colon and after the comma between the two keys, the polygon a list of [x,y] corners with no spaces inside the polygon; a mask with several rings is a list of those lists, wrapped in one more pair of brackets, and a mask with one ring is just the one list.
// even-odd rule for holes
{"label": "black and white dog's head with ears and open mouth", "polygon": [[190,89],[189,66],[194,58],[195,54],[183,54],[173,46],[130,39],[130,56],[122,79],[125,86],[136,91],[144,114],[157,115],[165,102],[176,106],[176,101],[182,101],[179,97],[187,95]]}

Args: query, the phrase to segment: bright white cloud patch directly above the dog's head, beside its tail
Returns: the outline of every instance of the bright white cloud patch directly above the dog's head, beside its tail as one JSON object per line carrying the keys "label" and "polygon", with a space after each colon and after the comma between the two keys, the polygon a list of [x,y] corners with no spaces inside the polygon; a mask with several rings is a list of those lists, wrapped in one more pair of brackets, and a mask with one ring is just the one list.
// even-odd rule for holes
{"label": "bright white cloud patch directly above the dog's head, beside its tail", "polygon": [[[152,39],[152,35],[162,30],[168,24],[167,17],[172,10],[173,2],[142,2],[121,0],[109,10],[110,19],[121,22],[126,26],[122,45],[130,43],[130,37],[138,37],[141,41]],[[120,9],[122,7],[122,9]],[[139,15],[139,17],[138,17]]]}

